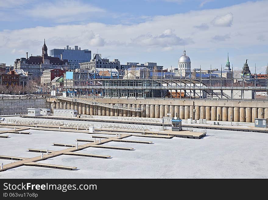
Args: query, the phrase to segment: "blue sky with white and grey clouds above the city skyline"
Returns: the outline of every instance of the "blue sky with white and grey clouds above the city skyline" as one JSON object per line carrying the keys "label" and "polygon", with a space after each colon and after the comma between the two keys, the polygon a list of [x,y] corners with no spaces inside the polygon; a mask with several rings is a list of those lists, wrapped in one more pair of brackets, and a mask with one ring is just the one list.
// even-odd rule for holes
{"label": "blue sky with white and grey clouds above the city skyline", "polygon": [[268,62],[268,1],[243,0],[0,0],[0,62],[48,50],[89,49],[102,58],[157,62],[176,68],[186,54],[192,68],[252,73]]}

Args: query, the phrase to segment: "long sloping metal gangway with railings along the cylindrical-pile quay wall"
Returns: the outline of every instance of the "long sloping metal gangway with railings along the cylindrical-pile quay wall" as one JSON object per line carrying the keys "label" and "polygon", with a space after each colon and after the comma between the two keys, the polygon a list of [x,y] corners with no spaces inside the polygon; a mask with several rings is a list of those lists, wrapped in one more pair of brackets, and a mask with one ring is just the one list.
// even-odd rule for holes
{"label": "long sloping metal gangway with railings along the cylindrical-pile quay wall", "polygon": [[56,96],[55,98],[60,99],[60,100],[70,101],[70,102],[78,102],[82,104],[102,106],[102,107],[107,107],[107,108],[112,108],[112,109],[120,109],[120,110],[135,111],[135,112],[143,111],[141,108],[132,108],[132,107],[126,107],[126,106],[104,104],[100,102],[94,102],[94,101],[88,101],[88,100],[82,100],[82,99],[76,99],[76,98],[70,98],[70,97]]}

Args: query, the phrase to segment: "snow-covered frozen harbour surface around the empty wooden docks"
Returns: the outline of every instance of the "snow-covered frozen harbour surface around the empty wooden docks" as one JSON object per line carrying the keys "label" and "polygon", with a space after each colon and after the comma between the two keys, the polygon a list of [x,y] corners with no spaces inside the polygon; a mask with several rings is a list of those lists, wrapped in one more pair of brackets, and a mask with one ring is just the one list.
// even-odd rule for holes
{"label": "snow-covered frozen harbour surface around the empty wooden docks", "polygon": [[[75,145],[77,138],[91,139],[92,135],[96,135],[29,131],[31,135],[8,133],[11,138],[0,138],[0,155],[38,156],[40,153],[28,152],[27,149],[60,150],[66,147],[52,146],[52,143]],[[0,178],[268,178],[268,135],[264,133],[207,130],[207,136],[203,139],[136,136],[126,139],[152,141],[153,144],[108,142],[104,145],[132,147],[135,150],[89,147],[79,152],[110,155],[112,158],[62,155],[39,162],[76,166],[78,170],[21,166],[0,172]],[[14,160],[0,162],[7,164]]]}

